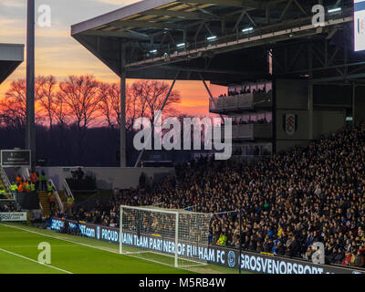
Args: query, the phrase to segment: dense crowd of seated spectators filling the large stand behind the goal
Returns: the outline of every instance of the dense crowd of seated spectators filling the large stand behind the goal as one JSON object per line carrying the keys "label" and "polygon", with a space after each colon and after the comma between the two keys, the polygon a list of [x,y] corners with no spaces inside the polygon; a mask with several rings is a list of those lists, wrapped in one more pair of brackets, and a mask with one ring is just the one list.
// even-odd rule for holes
{"label": "dense crowd of seated spectators filling the large stand behind the goal", "polygon": [[163,203],[214,214],[211,242],[239,247],[241,209],[246,250],[310,259],[315,242],[326,262],[364,266],[365,124],[310,141],[259,162],[201,158],[151,187],[121,191],[74,219],[118,226],[119,206]]}

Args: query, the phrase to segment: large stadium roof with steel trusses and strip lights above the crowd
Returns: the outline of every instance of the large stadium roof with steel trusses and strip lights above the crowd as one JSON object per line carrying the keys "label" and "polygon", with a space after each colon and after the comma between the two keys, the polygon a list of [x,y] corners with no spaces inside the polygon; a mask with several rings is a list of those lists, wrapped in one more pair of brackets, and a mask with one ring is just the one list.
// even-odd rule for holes
{"label": "large stadium roof with steel trusses and strip lights above the crowd", "polygon": [[[229,84],[270,78],[272,48],[330,39],[352,23],[352,1],[323,0],[324,27],[312,25],[313,5],[318,1],[144,0],[74,25],[71,35],[119,76],[125,68],[127,78],[173,79],[180,70],[179,79],[198,80],[201,72],[205,80]],[[338,6],[339,13],[328,13]],[[337,59],[343,65],[335,55],[332,65]]]}

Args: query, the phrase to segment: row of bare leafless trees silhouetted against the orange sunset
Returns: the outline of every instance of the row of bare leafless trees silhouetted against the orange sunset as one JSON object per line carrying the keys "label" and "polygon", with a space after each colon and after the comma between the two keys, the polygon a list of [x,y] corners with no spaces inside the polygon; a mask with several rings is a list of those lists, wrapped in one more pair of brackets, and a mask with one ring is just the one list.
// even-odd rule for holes
{"label": "row of bare leafless trees silhouetted against the orange sunset", "polygon": [[[50,75],[38,76],[35,85],[37,155],[48,157],[57,165],[115,162],[115,151],[120,143],[119,83],[101,83],[90,75],[69,76],[57,82]],[[130,160],[138,156],[131,143],[134,120],[140,117],[154,119],[154,111],[161,110],[169,89],[169,83],[149,80],[127,86],[126,128]],[[176,113],[174,105],[179,102],[179,92],[172,91],[164,115]],[[108,127],[100,127],[101,121]],[[0,97],[0,126],[1,147],[24,147],[25,79],[13,81],[5,96]]]}

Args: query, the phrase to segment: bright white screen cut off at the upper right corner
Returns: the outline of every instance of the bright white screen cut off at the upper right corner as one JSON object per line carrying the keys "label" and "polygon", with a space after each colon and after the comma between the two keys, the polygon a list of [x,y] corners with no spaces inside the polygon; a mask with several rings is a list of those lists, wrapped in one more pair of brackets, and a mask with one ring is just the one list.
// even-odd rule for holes
{"label": "bright white screen cut off at the upper right corner", "polygon": [[365,0],[354,0],[354,44],[355,51],[365,49]]}

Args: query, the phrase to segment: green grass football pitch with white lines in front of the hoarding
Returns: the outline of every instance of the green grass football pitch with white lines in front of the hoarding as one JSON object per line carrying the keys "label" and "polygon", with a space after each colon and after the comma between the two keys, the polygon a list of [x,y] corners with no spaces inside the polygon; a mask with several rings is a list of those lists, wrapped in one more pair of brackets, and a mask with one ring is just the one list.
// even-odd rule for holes
{"label": "green grass football pitch with white lines in front of the hoarding", "polygon": [[[42,252],[38,245],[44,242],[51,247],[49,265],[38,262]],[[115,244],[61,235],[25,224],[0,224],[0,274],[236,273],[213,265],[178,269],[118,252],[119,246]],[[163,262],[162,258],[155,260]]]}

